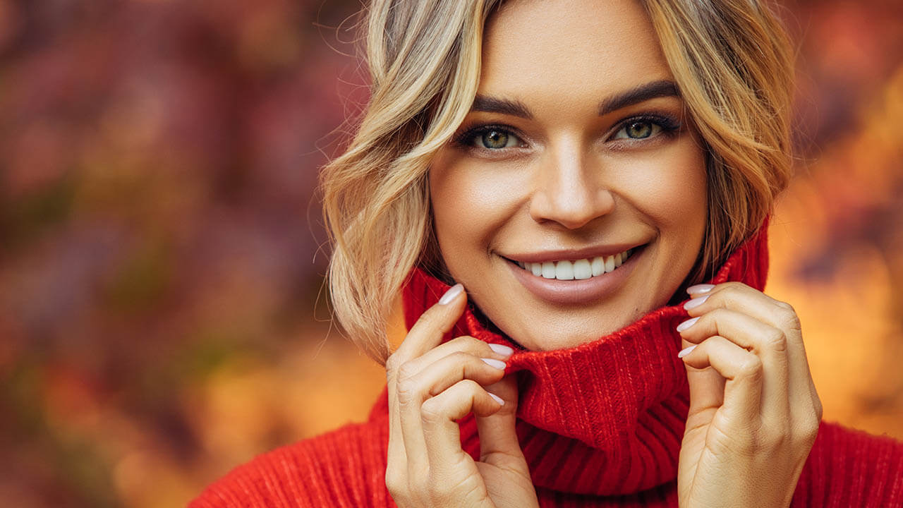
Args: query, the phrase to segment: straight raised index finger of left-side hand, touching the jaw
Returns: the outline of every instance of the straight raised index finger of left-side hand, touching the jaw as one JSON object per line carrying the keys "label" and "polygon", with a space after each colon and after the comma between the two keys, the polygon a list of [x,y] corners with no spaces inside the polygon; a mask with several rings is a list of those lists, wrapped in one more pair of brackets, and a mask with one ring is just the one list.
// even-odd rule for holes
{"label": "straight raised index finger of left-side hand, touching the jaw", "polygon": [[[396,474],[401,474],[400,471],[423,471],[427,466],[423,433],[419,429],[412,431],[410,438],[405,441],[405,432],[401,424],[402,409],[397,390],[398,370],[405,362],[440,343],[442,336],[452,329],[461,313],[464,312],[466,303],[467,296],[464,295],[463,287],[460,284],[449,289],[438,304],[430,307],[424,312],[424,315],[420,316],[405,337],[405,342],[386,360],[389,410],[389,441],[386,458]],[[404,400],[404,402],[415,403],[419,408],[419,400]]]}

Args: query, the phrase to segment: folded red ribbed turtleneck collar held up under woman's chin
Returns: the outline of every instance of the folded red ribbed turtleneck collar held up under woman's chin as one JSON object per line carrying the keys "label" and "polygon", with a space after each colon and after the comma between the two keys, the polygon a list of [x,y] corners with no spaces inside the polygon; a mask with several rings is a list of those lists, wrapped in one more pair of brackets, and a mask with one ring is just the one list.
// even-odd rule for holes
{"label": "folded red ribbed turtleneck collar held up under woman's chin", "polygon": [[[767,274],[763,226],[708,282],[740,281],[762,290]],[[404,289],[407,328],[448,288],[414,269]],[[468,308],[446,340],[471,335],[517,350],[507,372],[517,372],[517,436],[538,488],[630,494],[677,475],[689,395],[675,327],[686,317],[683,306],[665,306],[592,343],[532,352],[490,331]],[[461,420],[461,444],[479,456],[472,416]]]}

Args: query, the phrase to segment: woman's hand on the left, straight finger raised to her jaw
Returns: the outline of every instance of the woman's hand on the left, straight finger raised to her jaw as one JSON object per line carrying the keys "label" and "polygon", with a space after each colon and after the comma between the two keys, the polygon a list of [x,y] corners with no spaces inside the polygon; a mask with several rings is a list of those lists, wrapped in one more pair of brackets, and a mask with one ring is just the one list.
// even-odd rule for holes
{"label": "woman's hand on the left, straight finger raised to her jaw", "polygon": [[[503,379],[513,352],[468,336],[442,343],[466,305],[460,284],[449,289],[386,360],[386,486],[400,508],[538,506],[515,433],[517,383]],[[456,421],[471,411],[479,461],[461,449]]]}

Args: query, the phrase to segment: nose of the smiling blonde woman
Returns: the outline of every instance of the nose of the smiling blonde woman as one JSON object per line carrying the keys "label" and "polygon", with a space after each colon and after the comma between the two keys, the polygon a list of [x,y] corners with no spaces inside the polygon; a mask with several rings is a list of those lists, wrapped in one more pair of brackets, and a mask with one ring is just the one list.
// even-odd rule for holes
{"label": "nose of the smiling blonde woman", "polygon": [[575,230],[614,210],[614,195],[590,158],[577,144],[547,153],[537,168],[529,204],[534,221]]}

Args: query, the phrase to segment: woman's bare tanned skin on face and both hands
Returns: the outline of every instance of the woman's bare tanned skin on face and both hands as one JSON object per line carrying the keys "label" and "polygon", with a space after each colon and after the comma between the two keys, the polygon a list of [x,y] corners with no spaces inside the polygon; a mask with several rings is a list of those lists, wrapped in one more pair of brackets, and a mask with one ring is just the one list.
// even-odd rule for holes
{"label": "woman's bare tanned skin on face and both hands", "polygon": [[[478,96],[531,114],[471,111],[461,132],[507,126],[507,139],[489,136],[505,143],[489,149],[486,136],[465,136],[431,169],[436,237],[461,284],[386,362],[386,485],[403,508],[538,505],[515,434],[517,384],[504,377],[511,352],[472,337],[442,343],[468,298],[528,349],[587,343],[665,305],[703,240],[705,159],[681,99],[599,115],[600,100],[673,79],[638,3],[511,2],[484,37]],[[681,127],[666,134],[630,120],[649,113]],[[622,136],[625,120],[648,136]],[[535,296],[505,259],[624,242],[645,245],[628,277],[580,305]],[[821,419],[796,314],[738,283],[691,289],[688,313],[699,319],[679,330],[695,346],[682,352],[691,408],[680,505],[787,506]],[[470,412],[479,461],[461,450],[456,423]]]}

